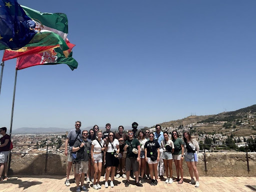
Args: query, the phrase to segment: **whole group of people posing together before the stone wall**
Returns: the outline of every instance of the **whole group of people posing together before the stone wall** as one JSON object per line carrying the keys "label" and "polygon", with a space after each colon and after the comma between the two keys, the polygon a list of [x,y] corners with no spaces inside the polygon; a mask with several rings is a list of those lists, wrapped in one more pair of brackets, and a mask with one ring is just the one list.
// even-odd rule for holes
{"label": "whole group of people posing together before the stone wall", "polygon": [[[81,122],[75,122],[75,128],[70,130],[65,141],[65,155],[67,155],[67,171],[65,185],[69,186],[69,173],[72,163],[75,165],[76,192],[88,191],[83,185],[86,174],[86,182],[93,183],[92,188],[99,189],[99,179],[102,166],[105,167],[105,184],[107,188],[110,176],[110,187],[114,187],[114,176],[126,178],[125,186],[129,186],[130,176],[135,175],[135,185],[143,186],[145,179],[151,179],[151,185],[157,185],[158,175],[163,179],[164,169],[166,183],[177,181],[183,183],[182,162],[185,159],[191,180],[189,183],[199,186],[199,175],[196,168],[199,151],[198,143],[191,138],[188,131],[183,132],[183,139],[176,130],[162,132],[159,124],[155,125],[155,132],[149,129],[137,130],[138,124],[132,123],[132,129],[127,133],[123,126],[118,127],[118,132],[110,130],[111,125],[105,125],[102,132],[97,125],[89,131],[80,130]],[[76,161],[71,157],[76,154]],[[172,160],[176,167],[176,178],[172,178]],[[115,170],[116,169],[116,170]],[[115,175],[116,172],[116,175]],[[139,182],[140,175],[140,182]],[[193,176],[195,176],[196,181]],[[81,182],[81,187],[79,186]]]}

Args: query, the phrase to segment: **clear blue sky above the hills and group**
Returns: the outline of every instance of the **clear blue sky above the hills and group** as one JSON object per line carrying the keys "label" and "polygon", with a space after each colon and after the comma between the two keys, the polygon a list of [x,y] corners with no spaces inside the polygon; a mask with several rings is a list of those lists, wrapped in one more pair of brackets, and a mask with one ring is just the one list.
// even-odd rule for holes
{"label": "clear blue sky above the hills and group", "polygon": [[[13,128],[152,126],[256,103],[255,0],[18,2],[67,15],[78,68],[19,70]],[[7,128],[15,62],[5,62],[0,93]]]}

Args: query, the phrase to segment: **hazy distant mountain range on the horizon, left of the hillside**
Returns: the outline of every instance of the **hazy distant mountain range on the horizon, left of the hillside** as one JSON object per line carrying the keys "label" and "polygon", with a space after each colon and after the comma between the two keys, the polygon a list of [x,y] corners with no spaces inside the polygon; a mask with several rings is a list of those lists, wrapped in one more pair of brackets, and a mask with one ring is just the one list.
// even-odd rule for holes
{"label": "hazy distant mountain range on the horizon, left of the hillside", "polygon": [[[143,128],[144,126],[138,126],[139,128]],[[81,128],[82,130],[89,130],[91,129],[92,126],[88,126],[86,128]],[[12,130],[12,134],[40,134],[40,133],[55,133],[55,132],[60,132],[60,133],[65,133],[66,131],[69,131],[72,128],[58,128],[58,127],[38,127],[38,128],[33,128],[33,127],[21,127],[21,128],[16,128]],[[99,129],[102,131],[105,131],[105,127],[100,127]],[[131,129],[130,126],[124,126],[125,130]],[[111,130],[118,130],[118,127],[113,127]]]}

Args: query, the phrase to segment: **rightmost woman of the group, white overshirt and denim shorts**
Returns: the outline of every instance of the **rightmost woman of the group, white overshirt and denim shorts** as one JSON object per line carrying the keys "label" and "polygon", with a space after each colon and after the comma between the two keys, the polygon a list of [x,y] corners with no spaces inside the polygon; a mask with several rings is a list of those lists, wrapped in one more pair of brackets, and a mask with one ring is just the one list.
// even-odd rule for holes
{"label": "rightmost woman of the group, white overshirt and denim shorts", "polygon": [[[183,133],[183,140],[184,140],[184,148],[185,148],[185,161],[189,170],[189,174],[191,176],[190,184],[195,183],[195,187],[199,186],[199,174],[196,168],[197,165],[197,153],[199,152],[199,145],[198,142],[191,138],[188,131],[184,131]],[[195,175],[196,181],[194,181],[193,173]]]}

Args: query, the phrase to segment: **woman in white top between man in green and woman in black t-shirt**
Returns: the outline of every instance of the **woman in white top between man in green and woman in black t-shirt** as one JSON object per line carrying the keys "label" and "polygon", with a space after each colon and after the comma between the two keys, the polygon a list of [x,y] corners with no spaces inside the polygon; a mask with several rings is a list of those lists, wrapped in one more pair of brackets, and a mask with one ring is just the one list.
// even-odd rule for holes
{"label": "woman in white top between man in green and woman in black t-shirt", "polygon": [[146,165],[144,144],[146,143],[147,139],[145,138],[145,133],[142,130],[138,131],[138,141],[140,143],[140,159],[138,161],[138,172],[140,172],[141,176],[140,182],[144,183],[144,170]]}

